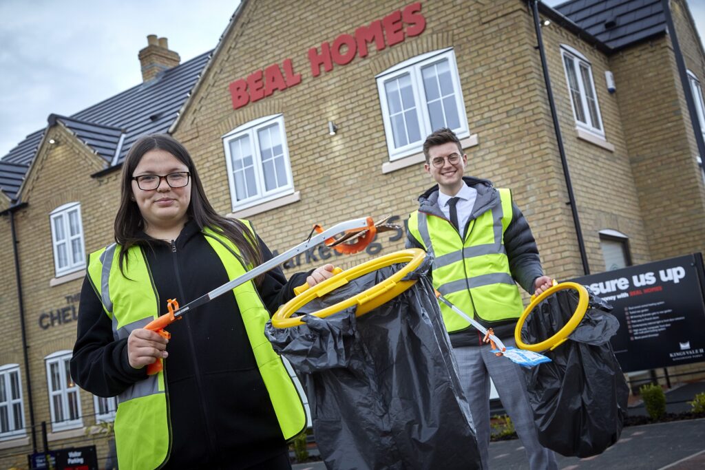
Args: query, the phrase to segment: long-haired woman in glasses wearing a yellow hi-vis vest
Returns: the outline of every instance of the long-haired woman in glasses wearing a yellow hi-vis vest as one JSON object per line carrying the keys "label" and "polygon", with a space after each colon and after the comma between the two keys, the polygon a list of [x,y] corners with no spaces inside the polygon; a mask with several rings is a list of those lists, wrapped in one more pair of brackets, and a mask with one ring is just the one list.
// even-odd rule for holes
{"label": "long-haired woman in glasses wearing a yellow hi-vis vest", "polygon": [[[168,135],[130,149],[115,240],[90,255],[71,376],[118,396],[120,468],[289,469],[286,440],[305,413],[264,323],[293,287],[333,267],[288,282],[269,271],[183,315],[170,340],[146,330],[167,299],[186,304],[272,257],[249,223],[214,211],[188,151]],[[148,376],[157,359],[164,370]]]}

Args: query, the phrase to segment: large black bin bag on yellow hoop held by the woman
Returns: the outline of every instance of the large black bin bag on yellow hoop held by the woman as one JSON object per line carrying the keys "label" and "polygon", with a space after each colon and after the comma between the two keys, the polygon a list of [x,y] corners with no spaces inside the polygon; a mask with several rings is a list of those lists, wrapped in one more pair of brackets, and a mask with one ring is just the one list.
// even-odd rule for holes
{"label": "large black bin bag on yellow hoop held by the woman", "polygon": [[[352,297],[402,265],[368,273],[314,300],[312,313]],[[329,469],[479,469],[479,452],[441,311],[428,278],[355,318],[351,308],[266,335],[306,390]]]}

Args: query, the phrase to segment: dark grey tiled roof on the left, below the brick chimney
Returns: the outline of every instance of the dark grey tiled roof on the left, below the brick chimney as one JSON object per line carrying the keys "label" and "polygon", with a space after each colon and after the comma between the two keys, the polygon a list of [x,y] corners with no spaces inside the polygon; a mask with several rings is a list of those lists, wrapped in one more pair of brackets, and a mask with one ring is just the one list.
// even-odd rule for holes
{"label": "dark grey tiled roof on the left, below the brick chimney", "polygon": [[[167,132],[208,62],[211,52],[164,70],[149,82],[141,83],[71,116],[50,114],[48,128],[60,121],[79,140],[106,160],[106,168],[118,165],[123,162],[130,146],[139,137]],[[0,161],[16,163],[25,168],[26,173],[35,159],[45,131],[46,129],[42,129],[27,135],[25,140]],[[0,180],[4,180],[3,173],[0,169]],[[0,190],[9,195],[4,184],[0,185]],[[14,194],[16,195],[16,192]]]}

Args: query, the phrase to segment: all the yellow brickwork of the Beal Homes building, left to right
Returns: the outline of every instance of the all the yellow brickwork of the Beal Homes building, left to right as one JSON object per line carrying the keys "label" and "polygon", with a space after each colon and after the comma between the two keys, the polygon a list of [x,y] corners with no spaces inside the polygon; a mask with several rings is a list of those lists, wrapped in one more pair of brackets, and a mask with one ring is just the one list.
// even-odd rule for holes
{"label": "all the yellow brickwork of the Beal Homes building, left to right", "polygon": [[[312,77],[307,60],[310,47],[333,42],[342,33],[352,34],[356,27],[404,6],[397,1],[247,3],[238,24],[223,38],[175,132],[191,151],[210,201],[221,214],[231,212],[222,135],[250,120],[283,113],[300,201],[250,217],[271,249],[283,252],[298,244],[313,223],[329,226],[348,218],[385,214],[398,216],[402,223],[416,208],[418,194],[433,182],[421,163],[382,173],[388,154],[374,77],[407,58],[453,47],[470,132],[478,139],[476,146],[467,149],[466,173],[513,190],[532,225],[547,273],[559,279],[580,276],[582,264],[566,204],[568,192],[535,49],[533,19],[524,2],[424,2],[427,25],[421,35],[383,51],[371,47],[367,57],[357,56],[346,66],[336,65],[331,72]],[[693,32],[683,26],[682,16],[675,16],[689,68],[705,75]],[[687,173],[693,170],[694,140],[670,42],[654,39],[608,58],[556,25],[542,32],[591,270],[603,270],[598,233],[606,228],[630,237],[635,264],[702,251],[699,224],[705,198],[701,181]],[[589,58],[606,140],[614,151],[577,137],[560,44]],[[228,85],[285,58],[291,58],[295,72],[302,74],[300,85],[234,111]],[[605,70],[615,74],[615,94],[606,91]],[[336,135],[328,135],[329,120],[339,126]],[[29,206],[16,214],[37,423],[50,420],[44,357],[71,350],[75,340],[74,322],[43,329],[39,315],[68,305],[66,297],[76,295],[82,283],[72,280],[49,287],[54,278],[49,213],[67,202],[80,202],[85,248],[92,252],[112,241],[119,194],[119,173],[91,178],[102,168],[99,158],[61,125],[52,128],[49,136],[61,144],[39,152],[25,183],[23,200]],[[380,235],[381,251],[374,256],[403,247],[404,238],[391,241],[394,236]],[[11,246],[6,217],[0,219],[0,243]],[[362,253],[333,260],[347,268],[372,257]],[[306,263],[304,257],[302,261],[288,273],[321,264],[321,260]],[[0,253],[0,262],[13,266],[11,250]],[[5,286],[0,290],[3,338],[13,338],[0,342],[0,364],[22,364],[14,271],[5,269],[0,276]],[[684,367],[675,369],[692,370]],[[24,369],[20,372],[25,379]],[[80,396],[84,424],[90,425],[92,397],[87,392]],[[25,395],[28,425],[27,410]],[[52,445],[59,447],[62,442],[69,441]],[[104,443],[98,443],[104,453]],[[0,468],[28,452],[27,446],[0,449]]]}

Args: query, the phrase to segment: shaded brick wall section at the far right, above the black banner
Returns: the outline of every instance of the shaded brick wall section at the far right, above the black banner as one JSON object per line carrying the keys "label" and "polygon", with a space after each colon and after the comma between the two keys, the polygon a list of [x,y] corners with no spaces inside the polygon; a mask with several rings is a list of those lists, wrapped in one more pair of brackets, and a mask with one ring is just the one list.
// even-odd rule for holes
{"label": "shaded brick wall section at the far right, above the black banner", "polygon": [[[686,62],[702,70],[694,31],[671,5]],[[670,37],[621,51],[611,66],[651,259],[702,252],[705,192]]]}

